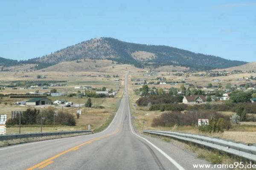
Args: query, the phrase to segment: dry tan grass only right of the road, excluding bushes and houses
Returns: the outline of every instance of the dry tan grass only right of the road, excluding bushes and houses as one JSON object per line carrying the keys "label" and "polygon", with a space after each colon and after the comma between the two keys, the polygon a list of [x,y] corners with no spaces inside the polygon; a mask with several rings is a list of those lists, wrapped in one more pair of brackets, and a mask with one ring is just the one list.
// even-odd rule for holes
{"label": "dry tan grass only right of the road, excluding bushes and houses", "polygon": [[[157,73],[156,76],[152,77],[160,77],[161,72]],[[241,74],[241,76],[246,76],[247,74]],[[139,74],[132,74],[133,77],[139,77],[141,79],[152,79],[152,77],[148,76],[141,76]],[[208,135],[223,139],[231,139],[236,142],[244,142],[244,143],[256,143],[256,124],[255,122],[241,122],[240,125],[232,125],[232,128],[230,130],[224,131],[224,133],[215,133],[215,134],[204,134],[199,132],[198,127],[192,127],[192,126],[174,126],[174,127],[151,127],[152,120],[155,117],[160,116],[163,112],[160,111],[148,111],[148,107],[139,107],[135,104],[136,100],[139,99],[140,96],[137,96],[134,94],[134,90],[139,88],[141,85],[134,85],[134,82],[131,82],[131,77],[129,77],[129,96],[130,96],[130,105],[131,105],[131,111],[133,116],[133,124],[137,131],[140,131],[142,129],[154,129],[154,130],[172,130],[172,131],[178,131],[178,132],[184,132],[184,133],[195,133],[195,134],[201,134],[201,135]],[[172,79],[177,80],[178,77],[169,76],[172,77]],[[200,82],[200,84],[207,84],[207,78],[206,79],[200,79],[199,77],[196,77],[196,81]],[[218,77],[218,79],[235,79],[236,76],[231,75],[230,77]],[[171,78],[169,78],[171,79]],[[212,79],[208,78],[208,79]],[[193,82],[193,81],[192,81]],[[199,83],[198,83],[199,84]],[[161,88],[169,88],[170,85],[150,85],[155,87],[161,87]],[[177,86],[179,88],[180,85]],[[232,116],[233,112],[229,111],[223,111],[220,112],[225,115]],[[143,124],[144,122],[144,124]]]}

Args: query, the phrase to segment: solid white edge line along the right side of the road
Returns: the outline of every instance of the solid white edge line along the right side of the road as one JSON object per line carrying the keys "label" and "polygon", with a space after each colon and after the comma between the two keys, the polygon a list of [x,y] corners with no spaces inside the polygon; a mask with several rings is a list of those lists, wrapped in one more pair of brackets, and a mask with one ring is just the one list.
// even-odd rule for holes
{"label": "solid white edge line along the right side of the road", "polygon": [[131,112],[130,112],[130,105],[129,105],[129,99],[128,99],[128,95],[126,94],[127,97],[127,101],[128,101],[128,111],[129,111],[129,120],[130,120],[130,127],[131,127],[131,132],[136,135],[137,137],[145,140],[146,142],[148,142],[149,144],[151,144],[152,147],[154,147],[156,150],[158,150],[163,156],[166,157],[166,159],[168,159],[170,162],[172,162],[172,164],[175,165],[175,167],[177,167],[179,170],[185,170],[180,164],[178,164],[174,159],[172,159],[169,155],[167,155],[163,150],[161,150],[159,147],[157,147],[156,145],[154,145],[153,143],[151,143],[150,141],[148,141],[148,139],[145,139],[139,135],[137,135],[136,133],[134,133],[133,129],[132,129],[132,125],[131,125]]}

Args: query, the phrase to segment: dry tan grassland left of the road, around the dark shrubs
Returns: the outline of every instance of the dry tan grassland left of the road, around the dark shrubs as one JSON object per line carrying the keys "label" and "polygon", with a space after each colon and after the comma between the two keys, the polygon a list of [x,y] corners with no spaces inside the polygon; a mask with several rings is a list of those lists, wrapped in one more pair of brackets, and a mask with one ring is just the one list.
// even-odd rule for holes
{"label": "dry tan grassland left of the road, around the dark shrubs", "polygon": [[[107,63],[108,64],[108,63]],[[102,88],[106,87],[107,89],[113,89],[114,91],[118,91],[114,98],[104,98],[104,99],[97,99],[91,98],[93,102],[93,106],[100,105],[103,108],[91,108],[88,111],[88,108],[81,107],[81,115],[79,119],[76,118],[76,111],[79,108],[62,108],[58,105],[53,106],[58,112],[67,111],[68,113],[73,113],[73,116],[76,119],[76,126],[62,126],[57,125],[55,128],[53,126],[43,126],[43,132],[49,131],[64,131],[64,130],[84,130],[87,128],[88,124],[91,124],[93,130],[102,130],[110,120],[113,118],[118,105],[119,100],[123,93],[123,78],[124,78],[124,71],[127,69],[131,69],[131,71],[137,71],[131,65],[126,65],[125,68],[120,67],[119,65],[115,66],[116,68],[107,68],[108,72],[58,72],[58,71],[16,71],[16,72],[0,72],[0,85],[9,85],[12,81],[66,81],[61,82],[61,84],[66,84],[65,86],[55,86],[49,87],[47,89],[41,88],[31,88],[31,89],[20,89],[22,87],[17,87],[18,89],[12,88],[5,88],[0,90],[0,94],[26,94],[29,92],[38,91],[39,93],[44,93],[50,91],[52,88],[55,88],[58,92],[62,93],[76,93],[77,91],[83,91],[83,89],[75,89],[76,86],[91,86],[92,88]],[[37,75],[44,76],[44,79],[37,79]],[[119,78],[107,78],[107,75],[119,75]],[[113,79],[121,79],[120,82],[113,82]],[[72,101],[75,104],[80,103],[81,105],[87,102],[87,97],[78,98],[74,97],[67,97],[67,96],[49,96],[49,99],[54,100],[66,100]],[[19,106],[13,105],[13,103],[18,101],[27,101],[29,98],[9,98],[8,96],[3,96],[0,98],[0,114],[7,114],[7,118],[11,117],[11,111],[25,111],[29,106]],[[102,101],[102,104],[100,102]],[[30,106],[34,108],[33,106]],[[31,133],[31,132],[40,132],[41,127],[40,125],[28,125],[28,126],[21,126],[22,133]],[[17,125],[12,127],[7,127],[6,132],[10,133],[18,133],[19,127]]]}

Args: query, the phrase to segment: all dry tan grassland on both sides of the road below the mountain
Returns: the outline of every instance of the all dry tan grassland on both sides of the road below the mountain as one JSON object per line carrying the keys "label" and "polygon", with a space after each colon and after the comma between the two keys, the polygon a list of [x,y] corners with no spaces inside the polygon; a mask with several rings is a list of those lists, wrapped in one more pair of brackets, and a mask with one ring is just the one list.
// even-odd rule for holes
{"label": "all dry tan grassland on both sides of the road below the mountain", "polygon": [[[243,78],[243,77],[250,77],[250,76],[256,76],[255,73],[243,73],[243,74],[231,74],[228,76],[222,76],[222,77],[195,77],[193,73],[182,73],[182,76],[176,76],[174,75],[177,72],[169,72],[169,69],[173,69],[173,67],[162,67],[159,68],[158,71],[154,75],[146,75],[144,69],[135,68],[131,65],[118,65],[116,63],[102,63],[104,60],[96,61],[97,64],[99,64],[98,68],[93,68],[91,71],[85,72],[87,68],[90,65],[85,65],[84,68],[81,68],[80,71],[54,71],[55,69],[62,69],[62,65],[66,65],[67,63],[61,63],[58,65],[58,68],[49,68],[39,70],[39,71],[33,71],[33,72],[24,72],[24,71],[16,71],[16,72],[0,72],[0,85],[7,85],[11,81],[37,81],[37,80],[43,80],[43,81],[66,81],[62,82],[65,84],[65,86],[57,86],[57,87],[50,87],[48,89],[41,89],[41,88],[33,88],[33,89],[12,89],[12,88],[5,88],[4,90],[0,90],[0,94],[10,94],[10,93],[19,93],[19,94],[25,94],[28,92],[35,92],[38,90],[41,93],[44,93],[46,91],[50,91],[52,88],[56,88],[58,92],[64,92],[64,93],[76,93],[78,90],[81,91],[81,89],[75,89],[76,86],[92,86],[93,88],[102,88],[103,86],[107,87],[108,89],[113,88],[113,90],[117,90],[120,88],[119,93],[114,98],[105,98],[105,101],[102,103],[102,106],[104,106],[103,109],[99,108],[93,108],[89,112],[87,111],[87,108],[84,111],[84,108],[81,108],[82,114],[79,119],[77,119],[77,125],[76,127],[44,127],[44,130],[70,130],[70,129],[85,129],[85,126],[87,124],[91,124],[93,129],[99,129],[102,126],[105,126],[104,123],[108,122],[111,117],[113,117],[113,113],[116,111],[116,107],[123,90],[123,81],[121,81],[122,85],[120,85],[120,82],[113,82],[113,79],[116,78],[107,78],[106,75],[119,75],[119,79],[124,79],[124,71],[129,71],[129,94],[130,94],[130,100],[132,105],[132,111],[133,111],[133,122],[137,130],[141,130],[142,128],[149,128],[151,129],[151,123],[152,120],[160,116],[162,112],[159,111],[148,111],[147,107],[138,107],[134,105],[135,101],[139,98],[139,96],[136,96],[134,94],[134,89],[139,88],[141,85],[135,85],[135,82],[131,82],[131,78],[138,78],[138,79],[146,79],[149,81],[157,82],[157,77],[165,77],[167,81],[175,81],[179,82],[180,79],[185,78],[186,83],[191,83],[194,85],[201,85],[205,86],[208,83],[212,83],[212,85],[218,85],[218,83],[221,83],[223,87],[227,83],[231,84],[244,84],[244,81],[237,81],[237,78]],[[68,62],[69,63],[69,62]],[[93,60],[88,61],[88,63],[94,63]],[[74,67],[79,66],[80,64],[84,64],[84,61],[81,60],[80,63],[76,63],[76,61],[72,62],[70,64],[70,70],[73,70]],[[56,65],[55,65],[56,66]],[[95,65],[94,65],[95,66]],[[52,66],[53,67],[53,66]],[[57,67],[57,66],[56,66]],[[177,68],[177,67],[174,67]],[[52,69],[52,70],[51,70]],[[80,68],[79,68],[80,69]],[[179,68],[184,69],[184,68]],[[185,68],[186,69],[186,68]],[[177,69],[178,70],[178,69]],[[204,73],[204,72],[202,72]],[[200,74],[200,73],[199,73]],[[45,79],[37,79],[37,75],[41,75],[46,77]],[[213,79],[219,79],[220,82],[213,82]],[[181,83],[184,84],[184,83]],[[180,88],[180,85],[149,85],[149,87],[157,87],[157,88]],[[185,87],[188,87],[188,85],[184,84]],[[52,100],[67,100],[72,101],[73,103],[84,103],[87,101],[87,98],[77,98],[77,97],[52,97],[49,96]],[[24,106],[16,106],[11,105],[13,102],[17,101],[26,101],[27,99],[10,99],[8,97],[3,97],[0,99],[0,113],[4,114],[6,113],[8,116],[10,116],[11,111],[23,111],[26,110],[27,107]],[[97,99],[92,98],[94,103],[97,103]],[[58,111],[61,111],[61,107],[56,107]],[[72,111],[72,108],[63,108],[64,111],[68,111],[69,113],[73,113],[75,115],[77,108],[74,108]],[[226,115],[232,115],[232,112],[221,112]],[[145,124],[143,124],[145,122]],[[25,128],[25,127],[24,127]],[[29,129],[32,129],[32,131],[38,131],[38,127],[26,127],[28,131]],[[157,127],[157,129],[165,129],[165,130],[176,130],[181,132],[188,132],[188,133],[199,133],[198,129],[196,127]],[[217,137],[221,137],[224,139],[233,139],[235,141],[241,141],[241,142],[248,142],[248,143],[255,143],[256,141],[256,133],[253,130],[256,130],[256,125],[253,123],[248,124],[245,122],[241,122],[241,125],[239,127],[233,126],[229,131],[225,131],[224,133],[217,134]],[[17,127],[13,127],[13,129],[9,130],[9,133],[17,131]],[[26,131],[25,129],[23,131]],[[250,136],[247,138],[246,136]]]}

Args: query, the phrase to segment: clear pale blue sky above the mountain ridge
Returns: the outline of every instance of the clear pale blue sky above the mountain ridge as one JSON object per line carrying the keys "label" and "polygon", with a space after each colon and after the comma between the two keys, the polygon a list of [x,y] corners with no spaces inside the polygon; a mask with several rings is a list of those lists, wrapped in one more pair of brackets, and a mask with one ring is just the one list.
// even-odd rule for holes
{"label": "clear pale blue sky above the mountain ridge", "polygon": [[256,1],[0,1],[0,57],[41,57],[96,37],[256,61]]}

